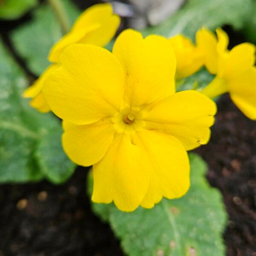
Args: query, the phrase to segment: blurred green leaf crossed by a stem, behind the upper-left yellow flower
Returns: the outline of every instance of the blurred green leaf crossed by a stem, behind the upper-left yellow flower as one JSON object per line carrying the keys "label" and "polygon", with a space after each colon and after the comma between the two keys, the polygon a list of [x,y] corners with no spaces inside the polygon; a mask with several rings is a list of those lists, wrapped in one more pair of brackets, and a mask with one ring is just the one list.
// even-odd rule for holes
{"label": "blurred green leaf crossed by a stem, behind the upper-left yellow flower", "polygon": [[[79,16],[76,6],[62,0],[70,22]],[[62,36],[61,26],[49,5],[44,4],[32,12],[32,20],[11,33],[18,54],[26,60],[29,70],[40,75],[49,65],[49,50]]]}

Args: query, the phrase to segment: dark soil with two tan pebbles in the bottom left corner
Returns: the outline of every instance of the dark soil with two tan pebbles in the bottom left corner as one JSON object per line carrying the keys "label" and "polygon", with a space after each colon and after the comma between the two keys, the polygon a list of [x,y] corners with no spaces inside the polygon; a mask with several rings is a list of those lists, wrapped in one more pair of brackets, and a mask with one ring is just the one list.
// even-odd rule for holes
{"label": "dark soil with two tan pebbles in the bottom left corner", "polygon": [[90,210],[86,176],[79,168],[62,186],[0,186],[0,255],[122,255],[109,226]]}

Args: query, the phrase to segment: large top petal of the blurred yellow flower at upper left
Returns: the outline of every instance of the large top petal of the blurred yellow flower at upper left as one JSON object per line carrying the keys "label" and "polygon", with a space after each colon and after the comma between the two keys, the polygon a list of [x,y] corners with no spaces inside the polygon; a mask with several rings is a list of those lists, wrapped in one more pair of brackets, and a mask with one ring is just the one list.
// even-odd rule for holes
{"label": "large top petal of the blurred yellow flower at upper left", "polygon": [[94,44],[103,47],[113,38],[119,23],[120,18],[113,14],[111,4],[89,7],[77,18],[71,31],[52,47],[49,61],[58,62],[61,53],[70,44]]}

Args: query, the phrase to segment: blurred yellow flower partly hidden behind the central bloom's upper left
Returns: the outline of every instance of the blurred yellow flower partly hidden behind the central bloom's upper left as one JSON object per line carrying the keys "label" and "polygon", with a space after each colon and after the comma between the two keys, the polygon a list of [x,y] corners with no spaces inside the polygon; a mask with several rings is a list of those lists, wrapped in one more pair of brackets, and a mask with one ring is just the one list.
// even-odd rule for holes
{"label": "blurred yellow flower partly hidden behind the central bloom's upper left", "polygon": [[49,74],[59,66],[59,60],[64,49],[71,44],[94,44],[103,47],[113,38],[119,26],[120,18],[113,14],[111,4],[96,4],[86,9],[76,20],[73,28],[64,35],[51,49],[48,59],[53,64],[25,90],[23,97],[33,98],[30,105],[43,113],[50,108],[44,99],[42,87]]}

